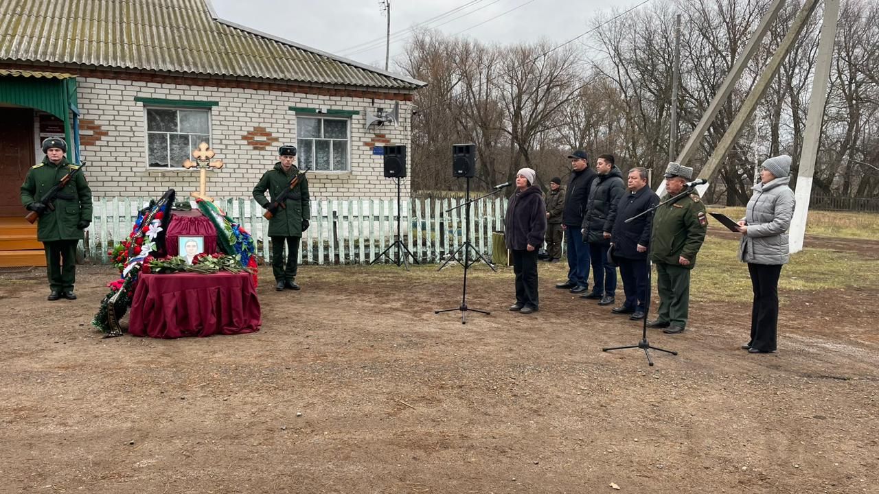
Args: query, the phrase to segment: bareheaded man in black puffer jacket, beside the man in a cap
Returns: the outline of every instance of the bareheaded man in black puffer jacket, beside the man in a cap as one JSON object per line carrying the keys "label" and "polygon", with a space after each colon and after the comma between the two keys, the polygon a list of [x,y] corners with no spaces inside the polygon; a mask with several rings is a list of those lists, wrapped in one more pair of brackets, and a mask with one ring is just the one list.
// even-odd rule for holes
{"label": "bareheaded man in black puffer jacket, beside the man in a cap", "polygon": [[626,193],[620,169],[614,165],[614,155],[601,155],[595,162],[598,177],[592,182],[589,206],[583,218],[583,238],[589,243],[592,259],[592,293],[582,294],[585,299],[611,305],[616,294],[616,267],[607,262],[607,248],[614,230],[616,207]]}

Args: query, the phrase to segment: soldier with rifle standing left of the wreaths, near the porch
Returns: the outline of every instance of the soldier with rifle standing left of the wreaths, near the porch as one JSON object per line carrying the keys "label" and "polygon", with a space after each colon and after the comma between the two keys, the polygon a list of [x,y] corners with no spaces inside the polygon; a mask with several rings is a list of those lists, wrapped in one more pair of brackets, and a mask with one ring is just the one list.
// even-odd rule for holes
{"label": "soldier with rifle standing left of the wreaths, near the porch", "polygon": [[91,189],[82,172],[76,173],[59,193],[52,206],[40,199],[61,181],[69,171],[79,168],[69,163],[64,154],[67,143],[58,137],[43,141],[43,161],[27,171],[21,185],[21,203],[40,214],[37,221],[37,239],[46,251],[46,272],[51,293],[48,300],[62,297],[76,300],[73,285],[76,282],[76,245],[83,239],[83,230],[91,223]]}

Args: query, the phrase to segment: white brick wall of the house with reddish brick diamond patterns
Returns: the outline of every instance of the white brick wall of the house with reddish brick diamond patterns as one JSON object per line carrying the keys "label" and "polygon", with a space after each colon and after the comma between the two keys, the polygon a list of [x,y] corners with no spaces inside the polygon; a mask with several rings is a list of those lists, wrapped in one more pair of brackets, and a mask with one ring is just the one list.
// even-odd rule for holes
{"label": "white brick wall of the house with reddish brick diamond patterns", "polygon": [[[198,171],[147,166],[146,113],[144,104],[134,98],[163,98],[219,103],[211,108],[211,139],[216,158],[225,167],[208,172],[207,193],[213,197],[251,197],[253,185],[277,161],[278,146],[296,143],[296,113],[289,109],[295,106],[360,112],[350,122],[350,170],[309,171],[314,197],[396,199],[396,181],[384,178],[382,157],[373,155],[373,146],[410,147],[411,102],[400,101],[398,94],[381,100],[364,98],[365,93],[359,91],[326,96],[98,77],[81,77],[77,85],[83,159],[89,163],[87,177],[96,198],[156,197],[170,187],[182,198],[198,190]],[[400,105],[395,126],[365,128],[368,109],[390,109],[395,100]],[[406,155],[408,169],[411,153]],[[408,175],[401,184],[407,197]]]}

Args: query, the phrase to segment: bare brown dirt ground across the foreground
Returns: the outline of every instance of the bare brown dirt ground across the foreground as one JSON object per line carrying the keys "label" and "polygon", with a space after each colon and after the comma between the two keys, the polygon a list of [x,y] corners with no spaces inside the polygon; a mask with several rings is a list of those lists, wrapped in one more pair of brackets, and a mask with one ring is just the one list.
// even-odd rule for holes
{"label": "bare brown dirt ground across the foreground", "polygon": [[[845,248],[845,245],[841,246]],[[258,288],[229,337],[101,338],[115,272],[77,301],[0,273],[0,492],[879,492],[879,293],[788,293],[780,351],[751,355],[750,307],[694,304],[679,352],[602,352],[641,325],[512,270],[301,267]]]}

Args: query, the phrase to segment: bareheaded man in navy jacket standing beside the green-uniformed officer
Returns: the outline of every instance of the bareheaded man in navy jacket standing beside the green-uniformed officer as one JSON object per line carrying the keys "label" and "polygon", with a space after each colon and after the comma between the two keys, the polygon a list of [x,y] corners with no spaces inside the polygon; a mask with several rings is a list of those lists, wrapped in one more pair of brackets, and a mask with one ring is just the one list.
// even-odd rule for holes
{"label": "bareheaded man in navy jacket standing beside the green-uniformed officer", "polygon": [[650,226],[653,214],[626,222],[659,203],[659,196],[647,186],[647,170],[633,168],[628,172],[628,193],[616,208],[616,222],[611,242],[614,260],[620,266],[622,289],[626,301],[611,311],[614,314],[630,314],[629,319],[643,319],[647,297],[647,250],[650,247]]}

